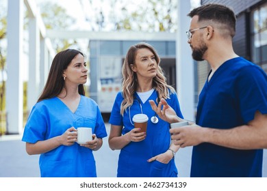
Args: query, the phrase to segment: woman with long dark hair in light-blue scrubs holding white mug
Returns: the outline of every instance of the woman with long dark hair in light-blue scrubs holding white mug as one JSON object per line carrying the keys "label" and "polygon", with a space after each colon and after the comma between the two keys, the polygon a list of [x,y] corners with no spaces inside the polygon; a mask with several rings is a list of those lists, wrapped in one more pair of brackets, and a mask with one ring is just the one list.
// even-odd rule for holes
{"label": "woman with long dark hair in light-blue scrubs holding white mug", "polygon": [[[99,107],[84,96],[87,73],[79,50],[64,50],[53,59],[22,138],[29,155],[40,154],[41,177],[97,177],[92,151],[107,133]],[[93,140],[76,143],[78,127],[92,128]]]}

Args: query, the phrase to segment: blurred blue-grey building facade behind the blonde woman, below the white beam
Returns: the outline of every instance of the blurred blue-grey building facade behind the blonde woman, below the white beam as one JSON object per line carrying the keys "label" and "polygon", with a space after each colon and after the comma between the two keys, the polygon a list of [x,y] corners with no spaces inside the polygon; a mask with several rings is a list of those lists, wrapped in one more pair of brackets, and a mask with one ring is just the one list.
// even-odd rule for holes
{"label": "blurred blue-grey building facade behind the blonde woman, below the white beam", "polygon": [[[102,113],[112,111],[116,94],[121,90],[121,68],[127,50],[142,40],[90,40],[90,84],[89,95],[99,105]],[[168,85],[176,89],[175,40],[150,40],[160,55]],[[96,83],[97,82],[97,83]]]}

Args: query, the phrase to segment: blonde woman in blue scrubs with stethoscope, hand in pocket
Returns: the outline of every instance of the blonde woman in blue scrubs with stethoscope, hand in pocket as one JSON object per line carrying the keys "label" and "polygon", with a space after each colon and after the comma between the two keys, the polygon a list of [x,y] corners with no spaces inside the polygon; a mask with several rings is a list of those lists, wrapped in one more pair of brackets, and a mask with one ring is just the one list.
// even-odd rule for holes
{"label": "blonde woman in blue scrubs with stethoscope, hand in pocket", "polygon": [[[160,57],[153,46],[131,46],[123,63],[123,91],[110,116],[109,145],[120,149],[117,177],[177,177],[174,156],[179,146],[170,140],[170,124],[159,119],[149,100],[164,98],[183,118],[175,89],[166,84]],[[147,132],[133,126],[133,115],[149,117]]]}

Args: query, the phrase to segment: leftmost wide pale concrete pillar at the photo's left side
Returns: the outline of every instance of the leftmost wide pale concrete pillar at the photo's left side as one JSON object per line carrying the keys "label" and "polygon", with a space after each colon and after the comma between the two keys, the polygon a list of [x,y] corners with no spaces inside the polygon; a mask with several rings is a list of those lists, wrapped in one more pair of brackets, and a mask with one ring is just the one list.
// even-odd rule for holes
{"label": "leftmost wide pale concrete pillar at the photo's left side", "polygon": [[7,134],[20,134],[23,131],[23,0],[8,1],[7,39]]}

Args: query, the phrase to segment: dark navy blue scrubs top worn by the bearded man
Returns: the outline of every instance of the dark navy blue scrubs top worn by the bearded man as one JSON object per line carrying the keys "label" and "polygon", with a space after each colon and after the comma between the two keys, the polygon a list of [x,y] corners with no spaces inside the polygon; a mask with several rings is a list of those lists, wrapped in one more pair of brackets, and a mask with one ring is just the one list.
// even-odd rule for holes
{"label": "dark navy blue scrubs top worn by the bearded man", "polygon": [[[199,126],[229,129],[267,113],[267,76],[242,57],[230,59],[206,81],[197,108]],[[191,177],[261,177],[262,149],[239,150],[202,143],[193,147]]]}

